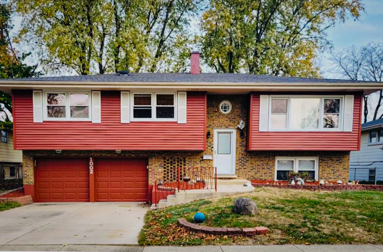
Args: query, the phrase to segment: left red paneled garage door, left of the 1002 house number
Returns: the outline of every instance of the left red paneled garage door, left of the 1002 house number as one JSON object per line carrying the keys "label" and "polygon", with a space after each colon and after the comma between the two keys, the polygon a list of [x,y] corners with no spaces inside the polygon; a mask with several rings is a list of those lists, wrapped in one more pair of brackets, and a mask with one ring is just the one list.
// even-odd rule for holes
{"label": "left red paneled garage door, left of the 1002 house number", "polygon": [[37,202],[89,201],[88,159],[36,159]]}

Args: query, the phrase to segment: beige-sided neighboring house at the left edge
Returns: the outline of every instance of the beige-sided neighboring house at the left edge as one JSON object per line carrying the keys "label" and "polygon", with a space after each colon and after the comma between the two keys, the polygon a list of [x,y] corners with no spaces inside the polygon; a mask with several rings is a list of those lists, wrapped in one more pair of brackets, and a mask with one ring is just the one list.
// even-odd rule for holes
{"label": "beige-sided neighboring house at the left edge", "polygon": [[13,132],[10,129],[0,130],[0,187],[10,185],[11,180],[22,177],[21,164],[23,153],[13,149]]}

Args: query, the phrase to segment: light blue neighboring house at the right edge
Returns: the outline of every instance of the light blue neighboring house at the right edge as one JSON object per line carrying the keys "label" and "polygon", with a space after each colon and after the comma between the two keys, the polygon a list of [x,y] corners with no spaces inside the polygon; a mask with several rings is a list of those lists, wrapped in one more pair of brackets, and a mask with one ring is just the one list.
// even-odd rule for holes
{"label": "light blue neighboring house at the right edge", "polygon": [[350,153],[350,180],[383,181],[383,118],[362,124],[360,151]]}

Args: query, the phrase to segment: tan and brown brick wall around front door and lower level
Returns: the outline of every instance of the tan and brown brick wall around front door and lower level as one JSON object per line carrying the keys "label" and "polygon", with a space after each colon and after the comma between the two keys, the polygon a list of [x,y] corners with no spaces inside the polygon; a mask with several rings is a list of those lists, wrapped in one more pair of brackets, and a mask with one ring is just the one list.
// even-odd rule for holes
{"label": "tan and brown brick wall around front door and lower level", "polygon": [[[33,157],[39,156],[113,156],[113,157],[147,157],[149,160],[149,184],[155,179],[167,176],[169,169],[177,165],[185,167],[212,167],[213,160],[203,160],[203,155],[213,155],[214,128],[236,128],[240,119],[247,124],[247,95],[208,95],[207,131],[211,133],[206,139],[206,150],[201,151],[23,151],[24,184],[33,185]],[[219,103],[229,100],[232,111],[223,115]],[[246,127],[244,129],[246,134]],[[272,139],[270,139],[272,141]],[[276,156],[319,157],[319,179],[343,180],[349,178],[350,152],[345,151],[246,151],[246,137],[241,138],[237,129],[236,142],[236,175],[238,178],[274,179]],[[96,168],[97,169],[97,168]]]}

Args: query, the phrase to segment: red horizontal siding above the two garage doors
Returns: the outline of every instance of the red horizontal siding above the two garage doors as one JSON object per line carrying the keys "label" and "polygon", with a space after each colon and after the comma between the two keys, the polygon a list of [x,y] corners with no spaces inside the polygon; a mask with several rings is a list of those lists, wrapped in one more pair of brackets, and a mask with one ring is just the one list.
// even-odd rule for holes
{"label": "red horizontal siding above the two garage doors", "polygon": [[13,92],[15,149],[195,150],[205,149],[205,92],[187,93],[187,123],[120,123],[120,92],[101,92],[101,123],[33,123],[31,90]]}

